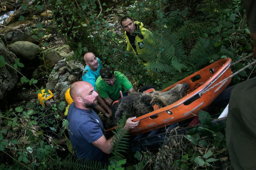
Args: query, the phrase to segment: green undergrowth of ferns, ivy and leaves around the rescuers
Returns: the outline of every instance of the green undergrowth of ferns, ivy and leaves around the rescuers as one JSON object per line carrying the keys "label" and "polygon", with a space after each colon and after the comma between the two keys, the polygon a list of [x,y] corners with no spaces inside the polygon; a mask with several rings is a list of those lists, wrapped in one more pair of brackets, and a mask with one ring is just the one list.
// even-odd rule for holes
{"label": "green undergrowth of ferns, ivy and leaves around the rescuers", "polygon": [[[103,9],[109,7],[107,2],[45,2],[46,6],[44,1],[31,6],[24,3],[22,8],[29,8],[32,15],[41,9],[53,12],[59,33],[65,36],[67,44],[75,51],[70,60],[82,61],[84,53],[93,52],[104,65],[128,75],[135,87],[153,84],[158,90],[164,89],[221,58],[228,57],[235,62],[252,52],[253,40],[240,0],[201,0],[198,4],[174,1],[175,9],[168,11],[164,10],[164,6],[173,1],[123,2],[123,8],[131,5],[127,15],[134,21],[143,22],[146,28],[151,27],[151,33],[146,34],[153,43],[145,43],[148,54],[141,56],[126,51],[125,37],[115,34],[115,30],[105,21],[103,16],[110,12],[109,8]],[[24,17],[19,20],[24,20]],[[47,29],[40,31],[42,24],[36,24],[36,28],[34,33],[39,38],[47,34]],[[141,60],[150,64],[138,64]],[[24,67],[19,60],[15,62],[11,66],[0,56],[0,67],[16,70]],[[250,62],[251,59],[244,60],[231,69],[238,71]],[[232,83],[237,84],[254,74],[254,68],[249,67],[232,77]],[[37,80],[29,80],[25,76],[20,81],[35,86],[37,83]],[[43,87],[38,87],[38,93],[41,89]],[[202,125],[191,129],[185,136],[175,131],[157,153],[132,153],[131,160],[126,161],[123,152],[129,144],[126,143],[126,132],[119,126],[115,134],[121,138],[115,138],[114,156],[109,166],[97,162],[83,163],[72,154],[66,158],[62,155],[66,145],[58,142],[65,138],[68,126],[68,121],[60,116],[65,111],[65,105],[64,99],[56,99],[55,104],[46,109],[39,103],[28,103],[0,111],[0,169],[219,169],[228,159],[223,135],[225,125],[211,124],[211,115],[204,111],[199,113]],[[125,118],[120,124],[124,122]]]}

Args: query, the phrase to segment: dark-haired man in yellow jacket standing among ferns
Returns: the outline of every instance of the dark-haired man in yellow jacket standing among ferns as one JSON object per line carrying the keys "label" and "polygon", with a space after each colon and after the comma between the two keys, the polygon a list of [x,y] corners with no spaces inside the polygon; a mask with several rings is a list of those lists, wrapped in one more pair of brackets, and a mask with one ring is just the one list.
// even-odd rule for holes
{"label": "dark-haired man in yellow jacket standing among ferns", "polygon": [[121,25],[125,30],[124,35],[127,40],[127,50],[132,50],[133,53],[135,55],[137,54],[138,56],[147,53],[144,49],[144,40],[146,39],[147,43],[149,44],[153,43],[153,41],[148,36],[152,33],[149,30],[143,28],[143,23],[133,21],[131,17],[125,16],[121,19]]}

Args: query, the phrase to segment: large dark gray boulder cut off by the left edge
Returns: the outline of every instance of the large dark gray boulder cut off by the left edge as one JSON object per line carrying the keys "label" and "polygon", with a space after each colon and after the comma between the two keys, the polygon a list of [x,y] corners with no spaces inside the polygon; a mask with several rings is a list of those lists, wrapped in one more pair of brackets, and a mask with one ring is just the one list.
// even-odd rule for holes
{"label": "large dark gray boulder cut off by the left edge", "polygon": [[[4,57],[6,63],[13,66],[16,56],[11,51],[6,49],[4,42],[0,38],[0,55]],[[12,90],[18,80],[17,71],[7,66],[0,67],[0,99],[6,97],[6,94]]]}

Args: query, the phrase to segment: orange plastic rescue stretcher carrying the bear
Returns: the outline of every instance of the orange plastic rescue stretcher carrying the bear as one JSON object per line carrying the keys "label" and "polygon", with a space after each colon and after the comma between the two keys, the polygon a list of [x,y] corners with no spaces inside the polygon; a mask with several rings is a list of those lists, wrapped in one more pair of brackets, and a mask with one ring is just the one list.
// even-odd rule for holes
{"label": "orange plastic rescue stretcher carrying the bear", "polygon": [[[230,64],[230,58],[220,59],[162,90],[162,92],[167,91],[177,84],[189,84],[189,88],[182,99],[160,109],[158,106],[154,106],[153,112],[134,119],[134,122],[140,120],[140,124],[130,130],[131,135],[138,135],[169,126],[173,123],[197,116],[199,110],[206,110],[210,103],[214,101],[230,83],[231,79],[228,79],[209,90],[209,88],[231,75]],[[207,89],[209,91],[207,91]],[[108,129],[105,132],[109,132],[113,129],[114,128]]]}

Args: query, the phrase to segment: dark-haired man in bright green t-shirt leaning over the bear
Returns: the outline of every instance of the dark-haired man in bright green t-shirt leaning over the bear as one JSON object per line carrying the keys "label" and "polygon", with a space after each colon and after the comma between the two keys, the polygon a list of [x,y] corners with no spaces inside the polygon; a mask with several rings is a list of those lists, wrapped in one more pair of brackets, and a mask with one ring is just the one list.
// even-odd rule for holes
{"label": "dark-haired man in bright green t-shirt leaning over the bear", "polygon": [[127,77],[118,72],[114,71],[113,68],[102,68],[100,70],[100,76],[96,80],[96,89],[105,102],[111,106],[111,103],[120,98],[119,91],[125,96],[126,90],[130,93],[135,93],[136,90],[132,86],[132,83]]}

